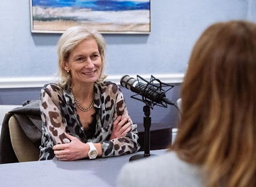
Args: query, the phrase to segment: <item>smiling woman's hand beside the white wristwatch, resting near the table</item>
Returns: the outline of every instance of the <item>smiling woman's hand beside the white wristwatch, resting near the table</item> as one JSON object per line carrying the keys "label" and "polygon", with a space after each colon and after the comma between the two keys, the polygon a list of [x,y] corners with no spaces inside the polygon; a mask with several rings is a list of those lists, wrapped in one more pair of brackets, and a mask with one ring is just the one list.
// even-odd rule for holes
{"label": "smiling woman's hand beside the white wristwatch, resting near the table", "polygon": [[90,150],[89,145],[82,143],[78,138],[71,136],[65,132],[68,139],[71,140],[67,144],[57,144],[53,146],[56,158],[62,161],[79,160],[88,156]]}

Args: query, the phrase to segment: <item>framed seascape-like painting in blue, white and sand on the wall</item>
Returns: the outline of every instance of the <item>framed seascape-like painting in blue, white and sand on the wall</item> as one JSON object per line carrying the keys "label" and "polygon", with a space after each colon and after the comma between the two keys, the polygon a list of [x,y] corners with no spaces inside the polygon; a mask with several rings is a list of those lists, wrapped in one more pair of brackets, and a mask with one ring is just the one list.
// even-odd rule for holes
{"label": "framed seascape-like painting in blue, white and sand on the wall", "polygon": [[30,0],[32,33],[86,25],[101,33],[150,33],[150,0]]}

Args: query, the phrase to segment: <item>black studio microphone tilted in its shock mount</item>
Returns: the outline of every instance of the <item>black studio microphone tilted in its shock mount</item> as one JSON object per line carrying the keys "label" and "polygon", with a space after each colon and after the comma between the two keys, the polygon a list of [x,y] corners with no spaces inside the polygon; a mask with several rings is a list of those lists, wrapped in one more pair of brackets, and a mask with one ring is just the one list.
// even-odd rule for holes
{"label": "black studio microphone tilted in its shock mount", "polygon": [[156,87],[149,82],[147,82],[147,84],[144,84],[134,78],[131,78],[129,75],[124,75],[120,79],[120,84],[123,87],[130,89],[132,92],[135,92],[136,94],[142,95],[142,97],[150,99],[152,102],[164,102],[166,104],[175,105],[175,103],[171,102],[171,100],[166,98],[165,92],[163,90],[159,90],[159,87]]}

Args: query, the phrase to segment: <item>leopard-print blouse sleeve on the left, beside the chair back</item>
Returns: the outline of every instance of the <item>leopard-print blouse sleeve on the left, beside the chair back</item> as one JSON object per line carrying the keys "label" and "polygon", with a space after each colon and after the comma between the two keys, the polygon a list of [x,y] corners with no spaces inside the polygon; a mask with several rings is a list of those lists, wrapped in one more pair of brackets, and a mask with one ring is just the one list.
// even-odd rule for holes
{"label": "leopard-print blouse sleeve on the left, beside the chair back", "polygon": [[[61,113],[63,100],[60,97],[61,89],[55,84],[48,84],[41,90],[41,118],[43,132],[48,137],[48,144],[53,145],[69,143],[70,140],[64,134],[66,120]],[[48,145],[49,146],[49,145]]]}

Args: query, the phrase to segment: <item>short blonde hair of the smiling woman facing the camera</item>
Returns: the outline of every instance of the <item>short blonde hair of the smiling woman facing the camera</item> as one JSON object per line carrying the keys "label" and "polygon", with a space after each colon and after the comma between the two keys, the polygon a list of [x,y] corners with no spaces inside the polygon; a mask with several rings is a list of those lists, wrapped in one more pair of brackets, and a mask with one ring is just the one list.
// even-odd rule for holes
{"label": "short blonde hair of the smiling woman facing the camera", "polygon": [[93,38],[97,42],[101,57],[101,73],[97,82],[103,82],[107,77],[103,74],[105,67],[105,50],[106,42],[104,37],[95,30],[90,30],[85,26],[75,26],[68,28],[60,37],[57,44],[57,54],[58,54],[58,77],[59,82],[62,87],[66,85],[71,85],[71,74],[67,73],[63,68],[65,61],[67,61],[70,52],[77,47],[85,39]]}

